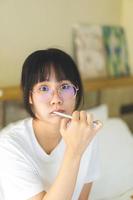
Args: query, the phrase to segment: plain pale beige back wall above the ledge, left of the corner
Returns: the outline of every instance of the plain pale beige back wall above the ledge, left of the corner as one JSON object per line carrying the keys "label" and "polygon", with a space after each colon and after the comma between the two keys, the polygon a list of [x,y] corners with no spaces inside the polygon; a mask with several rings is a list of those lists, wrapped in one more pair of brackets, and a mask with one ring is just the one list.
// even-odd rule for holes
{"label": "plain pale beige back wall above the ledge, left of the corner", "polygon": [[0,86],[19,84],[25,57],[36,49],[72,52],[76,23],[120,24],[121,0],[1,0]]}

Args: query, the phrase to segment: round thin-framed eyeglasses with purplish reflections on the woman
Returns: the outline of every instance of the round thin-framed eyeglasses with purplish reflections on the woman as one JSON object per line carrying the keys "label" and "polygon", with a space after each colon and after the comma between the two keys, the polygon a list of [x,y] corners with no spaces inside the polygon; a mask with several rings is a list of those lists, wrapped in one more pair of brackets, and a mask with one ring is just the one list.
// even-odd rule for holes
{"label": "round thin-framed eyeglasses with purplish reflections on the woman", "polygon": [[[77,95],[79,89],[73,84],[65,83],[57,88],[57,92],[60,98],[63,100],[72,99]],[[54,89],[48,85],[42,85],[39,88],[33,89],[32,93],[37,93],[43,100],[49,101],[53,97]]]}

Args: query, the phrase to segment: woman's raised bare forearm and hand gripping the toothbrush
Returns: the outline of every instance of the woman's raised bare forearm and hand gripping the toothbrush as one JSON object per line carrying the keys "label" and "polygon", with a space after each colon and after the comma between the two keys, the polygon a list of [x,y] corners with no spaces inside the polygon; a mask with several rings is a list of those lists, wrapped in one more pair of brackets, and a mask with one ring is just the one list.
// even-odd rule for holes
{"label": "woman's raised bare forearm and hand gripping the toothbrush", "polygon": [[101,124],[98,124],[94,129],[91,126],[91,116],[86,116],[83,111],[75,111],[72,116],[73,119],[69,125],[67,119],[63,119],[61,122],[60,132],[66,143],[66,152],[59,174],[44,197],[39,199],[36,196],[30,200],[71,200],[82,155],[101,127]]}

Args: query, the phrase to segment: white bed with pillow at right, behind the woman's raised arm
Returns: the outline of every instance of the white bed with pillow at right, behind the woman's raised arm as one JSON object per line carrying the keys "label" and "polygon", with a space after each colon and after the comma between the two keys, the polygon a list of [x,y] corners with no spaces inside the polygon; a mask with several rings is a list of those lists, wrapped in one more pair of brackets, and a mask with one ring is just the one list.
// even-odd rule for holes
{"label": "white bed with pillow at right, behind the woman's raised arm", "polygon": [[120,118],[109,118],[106,105],[89,109],[103,122],[98,134],[101,175],[90,200],[133,199],[133,134]]}

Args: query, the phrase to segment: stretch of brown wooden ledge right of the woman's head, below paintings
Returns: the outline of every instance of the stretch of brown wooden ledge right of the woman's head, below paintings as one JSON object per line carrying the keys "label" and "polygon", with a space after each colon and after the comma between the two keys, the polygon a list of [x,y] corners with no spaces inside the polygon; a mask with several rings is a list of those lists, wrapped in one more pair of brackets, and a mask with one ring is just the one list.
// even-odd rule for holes
{"label": "stretch of brown wooden ledge right of the woman's head, below paintings", "polygon": [[133,76],[83,81],[85,91],[101,91],[108,88],[133,86]]}

